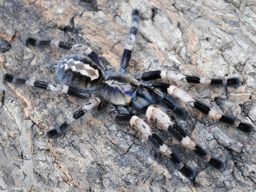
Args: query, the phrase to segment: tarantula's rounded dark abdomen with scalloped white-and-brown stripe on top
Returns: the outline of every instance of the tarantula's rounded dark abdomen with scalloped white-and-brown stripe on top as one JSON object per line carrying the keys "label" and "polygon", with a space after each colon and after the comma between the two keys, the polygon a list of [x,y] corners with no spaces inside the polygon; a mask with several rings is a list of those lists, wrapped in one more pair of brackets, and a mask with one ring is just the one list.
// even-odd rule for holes
{"label": "tarantula's rounded dark abdomen with scalloped white-and-brown stripe on top", "polygon": [[89,58],[69,55],[58,62],[57,79],[73,88],[90,90],[98,86],[104,78],[102,70]]}

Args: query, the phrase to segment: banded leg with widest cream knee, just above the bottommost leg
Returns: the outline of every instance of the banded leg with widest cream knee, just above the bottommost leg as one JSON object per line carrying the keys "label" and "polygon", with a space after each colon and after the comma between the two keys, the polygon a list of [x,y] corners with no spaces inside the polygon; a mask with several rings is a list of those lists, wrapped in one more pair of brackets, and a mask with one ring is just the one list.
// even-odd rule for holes
{"label": "banded leg with widest cream knee, just above the bottommost leg", "polygon": [[173,116],[170,118],[162,107],[153,105],[148,106],[148,108],[146,108],[146,117],[148,120],[157,120],[160,124],[162,124],[162,128],[165,132],[176,138],[176,140],[178,140],[182,146],[192,150],[198,157],[207,162],[212,168],[217,170],[223,170],[225,168],[224,162],[216,158],[212,158],[205,152],[204,149],[192,141],[178,122],[176,122],[175,118]]}

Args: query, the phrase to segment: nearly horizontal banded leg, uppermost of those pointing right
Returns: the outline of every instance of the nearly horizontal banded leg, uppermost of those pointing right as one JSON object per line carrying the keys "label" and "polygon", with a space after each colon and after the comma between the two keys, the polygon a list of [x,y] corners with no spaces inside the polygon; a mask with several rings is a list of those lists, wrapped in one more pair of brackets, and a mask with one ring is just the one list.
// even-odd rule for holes
{"label": "nearly horizontal banded leg, uppermost of those pointing right", "polygon": [[196,83],[196,84],[205,84],[210,86],[230,86],[236,87],[241,84],[241,80],[238,77],[232,78],[207,78],[207,77],[198,77],[198,76],[191,76],[191,75],[183,75],[177,73],[175,71],[170,70],[157,70],[157,71],[150,71],[138,76],[139,80],[154,80],[154,79],[167,79],[173,80],[174,82],[184,81],[189,83]]}

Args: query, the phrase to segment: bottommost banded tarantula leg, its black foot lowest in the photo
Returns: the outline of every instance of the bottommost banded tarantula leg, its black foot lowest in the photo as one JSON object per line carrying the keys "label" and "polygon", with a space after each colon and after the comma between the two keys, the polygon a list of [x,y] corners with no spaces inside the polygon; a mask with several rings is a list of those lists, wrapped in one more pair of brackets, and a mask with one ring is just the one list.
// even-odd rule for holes
{"label": "bottommost banded tarantula leg, its black foot lowest in the photo", "polygon": [[152,133],[150,127],[144,120],[133,114],[117,114],[115,120],[122,124],[130,124],[132,128],[135,128],[135,130],[142,135],[144,140],[148,141],[161,154],[170,158],[175,168],[186,176],[186,178],[193,179],[195,177],[195,170],[187,166],[176,154],[174,154],[157,134]]}

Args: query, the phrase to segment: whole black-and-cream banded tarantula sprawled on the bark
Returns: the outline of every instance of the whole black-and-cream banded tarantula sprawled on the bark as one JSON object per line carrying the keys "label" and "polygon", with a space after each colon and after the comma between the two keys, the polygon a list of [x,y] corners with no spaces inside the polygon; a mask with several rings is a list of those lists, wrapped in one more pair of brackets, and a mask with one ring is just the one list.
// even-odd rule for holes
{"label": "whole black-and-cream banded tarantula sprawled on the bark", "polygon": [[127,66],[136,40],[136,34],[138,33],[139,18],[140,11],[137,9],[132,10],[132,26],[124,48],[120,68],[110,74],[105,75],[102,60],[89,46],[53,40],[36,40],[28,37],[25,39],[26,44],[32,46],[56,46],[74,50],[78,54],[68,55],[62,58],[58,64],[52,66],[61,84],[17,78],[8,73],[4,74],[4,81],[70,94],[80,98],[90,97],[89,102],[68,117],[68,120],[57,128],[48,130],[46,132],[46,138],[48,139],[60,136],[72,122],[104,101],[108,103],[107,111],[114,117],[116,122],[130,124],[145,141],[148,141],[162,155],[170,158],[174,166],[188,179],[193,179],[196,176],[195,170],[187,166],[156,133],[152,132],[148,121],[156,120],[162,130],[175,138],[182,146],[192,150],[212,168],[223,170],[225,163],[207,154],[176,121],[175,115],[184,119],[186,118],[186,113],[175,104],[172,97],[178,98],[216,121],[234,126],[243,132],[253,132],[253,126],[234,117],[220,114],[172,84],[152,80],[167,79],[174,82],[184,81],[212,86],[239,86],[240,79],[236,77],[228,79],[202,78],[183,75],[170,70],[128,74]]}

